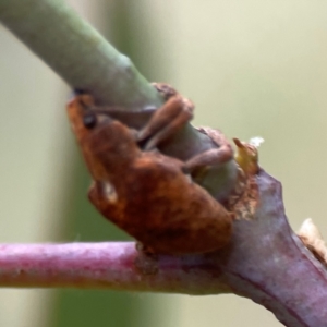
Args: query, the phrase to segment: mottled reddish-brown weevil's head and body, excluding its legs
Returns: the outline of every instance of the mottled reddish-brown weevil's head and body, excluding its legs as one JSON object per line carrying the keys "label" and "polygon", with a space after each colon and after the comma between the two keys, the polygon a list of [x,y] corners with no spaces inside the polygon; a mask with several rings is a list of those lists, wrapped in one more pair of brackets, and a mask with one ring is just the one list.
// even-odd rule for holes
{"label": "mottled reddish-brown weevil's head and body, excluding its legs", "polygon": [[107,219],[156,253],[203,253],[228,243],[232,215],[183,172],[184,162],[142,150],[140,133],[87,95],[75,97],[68,112],[94,179],[89,199]]}

